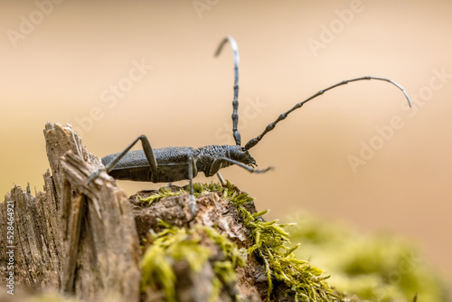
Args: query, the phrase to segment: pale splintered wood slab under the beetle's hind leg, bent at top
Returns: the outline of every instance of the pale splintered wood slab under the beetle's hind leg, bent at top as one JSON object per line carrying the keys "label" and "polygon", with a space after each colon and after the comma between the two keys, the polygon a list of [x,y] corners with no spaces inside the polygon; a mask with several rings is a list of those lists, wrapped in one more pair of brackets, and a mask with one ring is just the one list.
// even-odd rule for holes
{"label": "pale splintered wood slab under the beetle's hind leg, bent at top", "polygon": [[[93,167],[71,152],[61,158],[61,168],[72,189],[83,193],[87,201],[77,257],[74,287],[76,296],[94,299],[114,293],[114,296],[137,300],[140,252],[136,226],[126,194],[118,189],[108,175],[101,176],[88,185]],[[76,200],[80,201],[80,198],[77,197]],[[77,204],[72,199],[72,220],[68,228],[72,231],[68,233],[68,244],[72,247],[76,247],[76,242],[79,241],[74,229],[80,225],[80,215],[76,212],[82,212],[77,209]],[[73,252],[74,250],[68,250],[68,256]],[[68,268],[67,273],[71,274],[71,270]]]}

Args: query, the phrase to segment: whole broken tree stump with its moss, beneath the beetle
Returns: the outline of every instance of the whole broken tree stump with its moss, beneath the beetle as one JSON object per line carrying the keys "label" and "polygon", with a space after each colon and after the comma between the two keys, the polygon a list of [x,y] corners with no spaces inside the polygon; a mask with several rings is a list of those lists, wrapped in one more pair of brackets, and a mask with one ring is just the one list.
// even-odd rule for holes
{"label": "whole broken tree stump with its moss, beneath the beetle", "polygon": [[[306,297],[343,301],[309,264],[291,258],[284,231],[265,222],[260,217],[264,212],[256,211],[248,194],[231,184],[218,185],[218,192],[200,189],[195,215],[188,208],[188,194],[176,186],[141,191],[127,199],[104,172],[88,184],[89,175],[102,164],[81,145],[70,125],[48,123],[44,137],[52,169],[52,175],[43,175],[44,191],[33,196],[28,187],[14,185],[0,203],[5,238],[0,241],[0,283],[11,284],[13,272],[14,290],[53,291],[83,301],[295,301],[305,294],[291,290],[305,290],[306,285],[297,286],[294,280],[307,272],[314,281],[309,280],[313,288],[306,289]],[[158,198],[144,202],[149,196]],[[7,237],[8,226],[12,237]],[[273,228],[268,241],[277,245],[263,245],[263,227]],[[172,234],[181,240],[165,237]],[[166,239],[181,250],[174,250]],[[197,252],[192,258],[182,252],[189,243]],[[144,252],[154,249],[157,255],[159,247],[162,260],[149,270]],[[266,256],[273,247],[278,250]],[[240,250],[248,250],[248,255],[245,251],[244,258],[238,256]],[[275,255],[284,264],[275,266]],[[286,272],[270,270],[292,264]],[[165,268],[171,280],[158,275],[165,274]]]}

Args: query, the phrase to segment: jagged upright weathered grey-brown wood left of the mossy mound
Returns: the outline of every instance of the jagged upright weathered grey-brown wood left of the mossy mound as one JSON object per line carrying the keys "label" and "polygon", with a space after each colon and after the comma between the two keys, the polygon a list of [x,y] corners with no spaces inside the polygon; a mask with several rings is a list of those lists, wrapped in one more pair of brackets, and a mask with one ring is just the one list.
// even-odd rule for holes
{"label": "jagged upright weathered grey-brown wood left of the mossy mound", "polygon": [[[139,300],[140,258],[135,221],[126,194],[102,174],[70,126],[44,129],[52,176],[34,197],[14,185],[14,286],[61,291],[83,300]],[[6,203],[0,203],[0,228],[6,231]],[[0,283],[5,282],[6,250],[0,241]]]}

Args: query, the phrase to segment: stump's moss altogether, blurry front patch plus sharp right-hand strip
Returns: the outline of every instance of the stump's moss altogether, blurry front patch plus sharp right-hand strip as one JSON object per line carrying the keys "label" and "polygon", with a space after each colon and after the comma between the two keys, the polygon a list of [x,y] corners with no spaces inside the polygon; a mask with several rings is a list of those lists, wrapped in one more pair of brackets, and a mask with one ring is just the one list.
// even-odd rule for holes
{"label": "stump's moss altogether, blurry front patch plus sharp right-hand strip", "polygon": [[[234,204],[242,219],[245,228],[250,230],[250,239],[252,246],[247,250],[248,254],[257,255],[257,257],[265,263],[265,269],[268,278],[268,300],[274,296],[274,285],[284,284],[285,292],[295,297],[297,301],[342,301],[332,288],[326,283],[325,276],[321,269],[317,269],[305,260],[299,260],[294,256],[295,247],[290,246],[289,235],[285,228],[290,224],[278,224],[278,221],[264,222],[260,216],[264,212],[251,213],[246,209],[246,204],[254,200],[248,193],[240,193],[229,182],[226,185],[221,184],[193,184],[195,195],[198,197],[205,193],[217,192],[222,197],[229,199]],[[186,192],[188,187],[184,188]],[[184,191],[171,192],[161,189],[155,197],[149,197],[143,202],[158,200],[165,196],[174,196]],[[191,254],[196,255],[197,261],[205,261],[208,259],[208,250],[199,246],[199,241],[193,241],[193,231],[213,230],[210,228],[196,227],[193,231],[168,228],[156,235],[153,244],[146,251],[142,261],[143,268],[143,286],[160,287],[165,289],[165,295],[168,301],[174,298],[174,273],[171,270],[171,262],[174,256],[179,255],[179,259],[187,258],[190,262]],[[216,237],[215,237],[216,238]],[[188,243],[183,241],[189,241]],[[224,244],[224,239],[221,240]],[[219,242],[217,242],[219,243]],[[189,246],[184,253],[174,250],[181,250],[180,245]],[[155,247],[154,247],[155,246]],[[197,246],[197,247],[196,247]],[[227,248],[229,246],[230,248]],[[230,255],[236,253],[231,248],[230,243],[222,246],[221,250],[229,249]],[[235,259],[235,260],[234,260]],[[214,270],[219,280],[222,282],[231,282],[235,278],[234,269],[240,264],[238,257],[230,257],[230,261],[223,261],[214,264]],[[162,261],[165,265],[162,266]],[[193,263],[196,266],[195,263]],[[198,263],[199,265],[199,263]]]}

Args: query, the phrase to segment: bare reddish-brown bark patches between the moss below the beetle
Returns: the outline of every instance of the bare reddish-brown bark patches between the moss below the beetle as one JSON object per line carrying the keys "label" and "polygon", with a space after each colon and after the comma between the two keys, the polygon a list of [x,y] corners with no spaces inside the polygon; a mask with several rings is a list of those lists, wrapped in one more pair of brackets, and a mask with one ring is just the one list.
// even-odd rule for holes
{"label": "bare reddish-brown bark patches between the moss below the beetle", "polygon": [[[177,192],[181,187],[172,185],[165,189]],[[149,230],[155,232],[163,230],[159,225],[161,220],[179,228],[193,228],[199,224],[214,227],[236,243],[239,248],[248,249],[252,245],[249,238],[250,230],[243,226],[237,208],[229,200],[222,198],[221,193],[209,193],[197,198],[196,216],[193,216],[188,206],[188,193],[164,197],[150,205],[140,201],[140,197],[146,198],[154,193],[158,191],[140,191],[129,197],[137,223],[138,236],[142,243]],[[246,207],[250,212],[257,212],[254,203],[249,203]],[[209,296],[205,298],[206,296],[201,296],[200,293],[205,293],[206,287],[210,285],[206,280],[212,280],[212,267],[202,267],[201,274],[193,275],[193,271],[187,269],[186,263],[183,262],[174,266],[174,272],[178,278],[176,284],[178,301],[209,301]],[[203,282],[198,281],[202,279]],[[231,291],[240,292],[244,301],[261,301],[260,297],[267,295],[267,284],[265,267],[256,260],[254,255],[250,255],[246,267],[237,270],[237,282]],[[218,301],[232,301],[231,298],[228,293],[223,293]]]}

